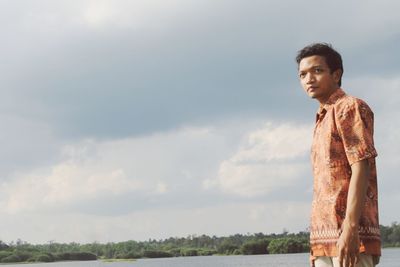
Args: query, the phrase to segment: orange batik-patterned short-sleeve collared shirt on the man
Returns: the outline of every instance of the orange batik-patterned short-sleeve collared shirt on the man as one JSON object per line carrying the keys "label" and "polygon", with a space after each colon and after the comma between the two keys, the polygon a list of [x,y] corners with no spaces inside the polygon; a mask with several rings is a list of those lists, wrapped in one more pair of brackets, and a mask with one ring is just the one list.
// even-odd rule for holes
{"label": "orange batik-patterned short-sleeve collared shirt on the man", "polygon": [[311,149],[313,256],[337,256],[336,243],[346,214],[351,165],[365,159],[370,176],[359,222],[360,252],[381,253],[373,119],[364,101],[346,95],[342,89],[337,89],[319,108]]}

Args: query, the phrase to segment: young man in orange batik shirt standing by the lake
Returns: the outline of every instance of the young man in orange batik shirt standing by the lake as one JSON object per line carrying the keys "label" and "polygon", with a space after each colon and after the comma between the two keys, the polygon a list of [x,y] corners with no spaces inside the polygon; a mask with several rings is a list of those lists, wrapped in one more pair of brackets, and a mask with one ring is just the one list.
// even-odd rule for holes
{"label": "young man in orange batik shirt standing by the lake", "polygon": [[373,113],[341,88],[343,64],[331,45],[297,54],[299,79],[320,103],[311,161],[311,260],[316,267],[375,266],[381,255]]}

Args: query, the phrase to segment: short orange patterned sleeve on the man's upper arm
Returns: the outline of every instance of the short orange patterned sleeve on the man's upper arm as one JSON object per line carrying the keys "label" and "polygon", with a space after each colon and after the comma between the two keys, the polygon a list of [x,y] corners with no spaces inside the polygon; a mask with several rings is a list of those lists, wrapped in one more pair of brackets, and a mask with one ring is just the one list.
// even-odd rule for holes
{"label": "short orange patterned sleeve on the man's upper arm", "polygon": [[369,106],[356,99],[336,112],[338,132],[349,164],[376,157],[374,146],[374,114]]}

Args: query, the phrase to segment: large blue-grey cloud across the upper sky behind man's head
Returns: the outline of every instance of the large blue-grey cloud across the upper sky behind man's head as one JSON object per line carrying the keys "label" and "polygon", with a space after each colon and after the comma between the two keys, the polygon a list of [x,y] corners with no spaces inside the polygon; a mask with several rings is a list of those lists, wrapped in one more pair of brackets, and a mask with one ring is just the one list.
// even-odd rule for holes
{"label": "large blue-grey cloud across the upper sky behind man's head", "polygon": [[[297,2],[177,1],[176,10],[164,4],[163,15],[137,4],[145,12],[139,16],[134,4],[122,1],[105,5],[111,15],[103,18],[90,1],[63,2],[65,9],[45,3],[40,9],[8,4],[18,23],[5,29],[9,45],[3,51],[12,48],[6,54],[12,64],[4,70],[16,98],[29,98],[18,112],[48,121],[65,138],[145,134],[243,112],[302,119],[314,107],[298,92],[293,57],[311,41],[334,41],[344,54],[354,54],[350,62],[372,61],[379,70],[397,65],[398,33],[381,31],[393,22],[370,21],[351,6],[332,4],[326,14],[316,5],[315,16],[302,17]],[[91,9],[95,25],[87,18]],[[328,23],[339,11],[342,19]],[[119,20],[130,14],[136,17]],[[373,35],[365,30],[369,26],[376,28]],[[374,68],[358,66],[349,75]]]}

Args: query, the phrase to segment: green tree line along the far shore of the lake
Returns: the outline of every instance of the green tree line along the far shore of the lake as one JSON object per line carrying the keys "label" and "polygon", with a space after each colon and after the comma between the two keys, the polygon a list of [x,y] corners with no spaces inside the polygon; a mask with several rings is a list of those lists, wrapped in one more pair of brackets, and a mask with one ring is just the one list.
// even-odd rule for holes
{"label": "green tree line along the far shore of the lake", "polygon": [[[400,247],[400,225],[381,226],[384,247]],[[32,245],[18,240],[10,244],[0,241],[0,262],[53,262],[71,260],[138,259],[208,255],[256,255],[300,253],[309,251],[309,233],[236,234],[229,237],[171,237],[165,240],[118,243],[60,244],[49,242]]]}

